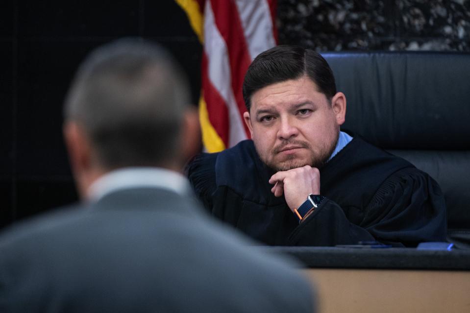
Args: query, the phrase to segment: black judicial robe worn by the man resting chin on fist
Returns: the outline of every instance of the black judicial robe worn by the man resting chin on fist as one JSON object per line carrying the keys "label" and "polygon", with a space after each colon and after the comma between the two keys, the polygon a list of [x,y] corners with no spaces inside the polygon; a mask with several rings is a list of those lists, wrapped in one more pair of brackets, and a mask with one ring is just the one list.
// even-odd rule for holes
{"label": "black judicial robe worn by the man resting chin on fist", "polygon": [[269,245],[445,241],[445,201],[436,181],[359,137],[320,169],[326,198],[300,224],[284,196],[271,192],[268,180],[275,171],[260,160],[251,140],[199,154],[186,171],[213,216]]}

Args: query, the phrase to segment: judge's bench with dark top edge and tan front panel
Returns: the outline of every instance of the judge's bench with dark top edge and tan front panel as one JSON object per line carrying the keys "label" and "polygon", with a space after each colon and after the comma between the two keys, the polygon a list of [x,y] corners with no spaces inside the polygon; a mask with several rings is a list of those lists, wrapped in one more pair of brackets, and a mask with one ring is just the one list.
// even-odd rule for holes
{"label": "judge's bench with dark top edge and tan front panel", "polygon": [[470,250],[257,248],[306,265],[319,313],[470,312]]}

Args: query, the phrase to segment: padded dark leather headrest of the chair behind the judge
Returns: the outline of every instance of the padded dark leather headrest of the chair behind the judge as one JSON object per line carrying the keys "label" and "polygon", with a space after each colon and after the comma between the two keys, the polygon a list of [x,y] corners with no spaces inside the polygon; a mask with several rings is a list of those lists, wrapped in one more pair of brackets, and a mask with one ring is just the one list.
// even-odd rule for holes
{"label": "padded dark leather headrest of the chair behind the judge", "polygon": [[343,129],[385,149],[470,148],[470,54],[328,52]]}

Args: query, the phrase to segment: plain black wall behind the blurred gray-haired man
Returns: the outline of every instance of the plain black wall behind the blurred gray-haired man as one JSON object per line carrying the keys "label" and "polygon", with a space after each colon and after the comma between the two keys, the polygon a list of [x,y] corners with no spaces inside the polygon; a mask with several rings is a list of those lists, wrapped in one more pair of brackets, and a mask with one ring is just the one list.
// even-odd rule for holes
{"label": "plain black wall behind the blurred gray-haired man", "polygon": [[62,104],[88,52],[121,37],[168,48],[200,89],[201,45],[186,14],[163,1],[2,1],[0,227],[77,200]]}

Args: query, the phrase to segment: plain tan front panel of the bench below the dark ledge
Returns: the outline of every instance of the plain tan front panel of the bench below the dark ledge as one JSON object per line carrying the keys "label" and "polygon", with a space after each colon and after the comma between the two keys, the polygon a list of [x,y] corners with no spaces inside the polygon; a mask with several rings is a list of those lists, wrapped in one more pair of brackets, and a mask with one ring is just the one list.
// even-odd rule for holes
{"label": "plain tan front panel of the bench below the dark ledge", "polygon": [[470,271],[307,268],[318,313],[470,312]]}

